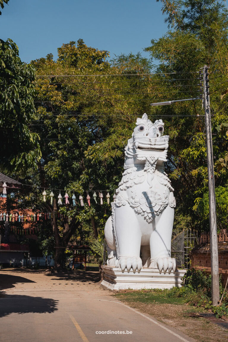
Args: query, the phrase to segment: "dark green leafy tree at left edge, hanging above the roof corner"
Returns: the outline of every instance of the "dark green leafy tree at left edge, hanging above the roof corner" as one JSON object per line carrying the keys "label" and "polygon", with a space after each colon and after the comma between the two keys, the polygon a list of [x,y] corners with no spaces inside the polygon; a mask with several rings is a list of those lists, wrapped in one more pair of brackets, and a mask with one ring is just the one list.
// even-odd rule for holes
{"label": "dark green leafy tree at left edge, hanging above the roof corner", "polygon": [[29,124],[36,118],[35,69],[21,62],[18,47],[0,39],[0,130],[2,168],[26,172],[40,160],[39,136]]}

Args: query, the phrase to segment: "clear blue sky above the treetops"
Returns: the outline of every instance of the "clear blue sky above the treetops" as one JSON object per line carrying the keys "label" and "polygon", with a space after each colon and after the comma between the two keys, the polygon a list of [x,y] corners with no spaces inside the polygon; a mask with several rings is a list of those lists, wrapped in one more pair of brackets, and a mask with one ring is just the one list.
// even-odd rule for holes
{"label": "clear blue sky above the treetops", "polygon": [[21,60],[45,57],[71,40],[114,54],[142,52],[167,31],[156,0],[10,0],[0,16],[0,38],[13,39]]}

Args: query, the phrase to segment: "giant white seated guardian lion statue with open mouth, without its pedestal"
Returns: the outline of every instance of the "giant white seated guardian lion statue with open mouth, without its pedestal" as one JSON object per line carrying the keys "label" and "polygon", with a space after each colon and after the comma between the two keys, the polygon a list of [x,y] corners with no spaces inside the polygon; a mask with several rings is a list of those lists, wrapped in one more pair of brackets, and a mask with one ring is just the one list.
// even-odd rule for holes
{"label": "giant white seated guardian lion statue with open mouth, without its pedestal", "polygon": [[122,272],[140,272],[142,267],[176,271],[176,259],[171,258],[176,201],[164,172],[169,136],[163,132],[162,120],[153,123],[145,113],[137,118],[125,147],[123,177],[105,225],[107,265]]}

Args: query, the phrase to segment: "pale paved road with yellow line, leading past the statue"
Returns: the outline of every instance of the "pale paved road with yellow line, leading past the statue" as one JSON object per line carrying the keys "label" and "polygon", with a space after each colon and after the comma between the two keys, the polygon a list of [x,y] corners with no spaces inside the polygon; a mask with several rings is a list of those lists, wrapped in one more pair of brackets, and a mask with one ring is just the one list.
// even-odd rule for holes
{"label": "pale paved road with yellow line, leading past the statue", "polygon": [[[14,277],[10,287],[9,277]],[[42,277],[43,282],[38,280]],[[35,275],[32,280],[26,273],[16,277],[12,273],[0,274],[0,284],[5,284],[0,298],[1,342],[193,341],[115,300],[93,282],[83,284],[77,277],[72,280],[44,274],[38,278]],[[71,286],[67,287],[69,281]]]}

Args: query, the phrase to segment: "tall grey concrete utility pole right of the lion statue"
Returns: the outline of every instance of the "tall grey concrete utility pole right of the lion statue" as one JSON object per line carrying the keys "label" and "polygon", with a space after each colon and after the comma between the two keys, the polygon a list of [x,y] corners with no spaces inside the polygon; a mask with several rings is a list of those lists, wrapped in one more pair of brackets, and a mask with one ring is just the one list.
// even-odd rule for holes
{"label": "tall grey concrete utility pole right of the lion statue", "polygon": [[218,272],[218,240],[216,221],[216,200],[215,200],[215,178],[214,160],[211,132],[211,108],[209,95],[208,67],[203,67],[203,93],[206,127],[206,151],[207,151],[207,172],[209,188],[209,220],[210,220],[210,247],[211,247],[211,295],[212,305],[219,302],[219,272]]}

